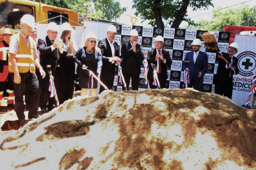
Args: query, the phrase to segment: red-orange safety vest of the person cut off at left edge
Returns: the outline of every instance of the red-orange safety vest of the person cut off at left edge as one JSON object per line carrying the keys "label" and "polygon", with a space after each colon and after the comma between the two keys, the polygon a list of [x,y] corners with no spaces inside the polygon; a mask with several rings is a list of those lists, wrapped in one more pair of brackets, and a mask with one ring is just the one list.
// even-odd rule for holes
{"label": "red-orange safety vest of the person cut off at left edge", "polygon": [[[7,51],[9,47],[5,47],[3,42],[0,42],[0,60],[7,60]],[[0,81],[5,81],[8,77],[8,65],[4,65],[3,72],[0,72]]]}

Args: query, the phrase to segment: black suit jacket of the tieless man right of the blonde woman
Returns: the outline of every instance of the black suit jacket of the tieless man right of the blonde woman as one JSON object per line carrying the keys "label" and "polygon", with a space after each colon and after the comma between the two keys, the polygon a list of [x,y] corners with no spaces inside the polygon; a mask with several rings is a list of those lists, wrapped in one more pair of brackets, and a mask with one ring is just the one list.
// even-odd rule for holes
{"label": "black suit jacket of the tieless man right of the blonde woman", "polygon": [[110,69],[113,69],[112,72],[114,72],[115,71],[115,67],[114,67],[115,63],[112,64],[112,62],[110,62],[110,58],[115,57],[115,56],[119,57],[118,44],[116,42],[114,42],[114,47],[115,47],[114,55],[115,56],[112,56],[110,43],[107,40],[107,38],[100,40],[98,43],[98,47],[101,49],[101,52],[102,52],[102,62],[103,62],[102,73],[111,72]]}

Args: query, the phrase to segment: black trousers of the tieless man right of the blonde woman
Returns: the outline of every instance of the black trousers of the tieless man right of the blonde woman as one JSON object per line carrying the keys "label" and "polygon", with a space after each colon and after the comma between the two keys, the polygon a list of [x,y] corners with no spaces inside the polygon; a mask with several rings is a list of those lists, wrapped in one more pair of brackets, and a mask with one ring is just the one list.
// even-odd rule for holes
{"label": "black trousers of the tieless man right of the blonde woman", "polygon": [[[115,67],[115,66],[114,66]],[[101,73],[101,82],[105,84],[107,89],[111,90],[114,84],[114,78],[115,78],[115,72],[113,69],[110,70],[110,72],[102,72]],[[103,86],[100,87],[100,92],[103,92],[105,88]]]}

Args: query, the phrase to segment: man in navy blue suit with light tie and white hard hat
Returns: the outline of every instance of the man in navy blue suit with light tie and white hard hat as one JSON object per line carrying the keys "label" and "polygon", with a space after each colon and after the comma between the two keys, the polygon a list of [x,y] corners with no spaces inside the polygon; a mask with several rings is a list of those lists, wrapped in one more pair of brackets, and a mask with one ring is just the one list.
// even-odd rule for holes
{"label": "man in navy blue suit with light tie and white hard hat", "polygon": [[[194,39],[192,42],[193,51],[186,53],[184,61],[190,61],[189,65],[189,88],[203,91],[203,76],[208,68],[208,56],[205,52],[200,51],[201,40]],[[186,68],[184,62],[182,71]],[[184,80],[185,81],[185,80]]]}

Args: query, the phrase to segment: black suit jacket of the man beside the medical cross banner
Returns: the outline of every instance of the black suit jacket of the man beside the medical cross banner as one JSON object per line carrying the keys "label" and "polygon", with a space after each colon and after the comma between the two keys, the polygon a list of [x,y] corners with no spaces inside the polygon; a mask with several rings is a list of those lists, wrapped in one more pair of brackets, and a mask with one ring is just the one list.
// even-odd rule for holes
{"label": "black suit jacket of the man beside the medical cross banner", "polygon": [[[229,62],[231,62],[231,57],[229,56],[229,54],[222,52],[223,57],[228,60]],[[238,74],[239,69],[238,69],[238,59],[236,57],[233,56],[232,58],[232,65],[235,66],[235,75]],[[230,76],[230,71],[231,68],[226,69],[225,68],[225,61],[222,59],[219,59],[219,65],[218,65],[218,70],[217,70],[217,76],[219,77],[218,79],[218,83],[222,84],[227,78],[229,78]],[[231,77],[233,78],[233,71],[231,71]],[[217,82],[216,82],[217,83]]]}

